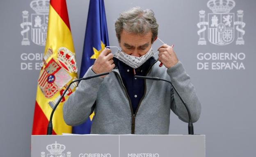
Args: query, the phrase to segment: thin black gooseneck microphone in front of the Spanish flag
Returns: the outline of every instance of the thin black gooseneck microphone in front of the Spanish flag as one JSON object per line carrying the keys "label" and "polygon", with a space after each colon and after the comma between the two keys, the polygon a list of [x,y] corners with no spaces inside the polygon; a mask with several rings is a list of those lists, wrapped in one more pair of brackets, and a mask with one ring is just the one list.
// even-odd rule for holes
{"label": "thin black gooseneck microphone in front of the Spanish flag", "polygon": [[74,81],[70,82],[69,86],[66,87],[65,91],[62,93],[61,97],[59,98],[59,100],[57,101],[56,105],[53,108],[53,111],[50,115],[50,120],[49,120],[49,123],[48,123],[47,134],[46,135],[52,135],[53,134],[53,113],[56,110],[59,103],[61,102],[62,98],[64,97],[66,91],[68,91],[71,84],[73,84],[74,82],[81,81],[81,80],[89,80],[89,79],[94,78],[94,77],[100,77],[100,76],[108,75],[108,74],[109,74],[109,72],[100,73],[100,74],[96,74],[96,75],[92,75],[92,76],[83,77],[83,78],[80,78],[80,79],[77,79],[77,80],[74,80]]}

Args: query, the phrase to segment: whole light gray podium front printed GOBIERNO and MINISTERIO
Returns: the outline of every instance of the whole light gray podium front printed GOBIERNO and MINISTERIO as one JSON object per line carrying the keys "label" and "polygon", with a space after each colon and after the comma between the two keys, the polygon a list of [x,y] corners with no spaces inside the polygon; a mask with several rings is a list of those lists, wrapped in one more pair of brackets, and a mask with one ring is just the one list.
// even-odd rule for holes
{"label": "whole light gray podium front printed GOBIERNO and MINISTERIO", "polygon": [[31,157],[205,157],[205,135],[32,135]]}

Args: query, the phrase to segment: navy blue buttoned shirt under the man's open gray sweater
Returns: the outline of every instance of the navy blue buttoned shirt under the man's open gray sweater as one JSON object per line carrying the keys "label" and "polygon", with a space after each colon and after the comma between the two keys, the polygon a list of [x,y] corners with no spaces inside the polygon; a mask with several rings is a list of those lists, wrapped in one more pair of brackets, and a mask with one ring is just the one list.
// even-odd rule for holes
{"label": "navy blue buttoned shirt under the man's open gray sweater", "polygon": [[[142,66],[135,69],[136,75],[145,76],[151,64],[155,62],[153,57],[149,58]],[[137,79],[134,77],[134,70],[130,66],[118,60],[117,63],[122,81],[126,87],[127,93],[130,97],[131,104],[133,106],[133,113],[135,114],[136,109],[140,100],[142,99],[145,92],[144,79]]]}

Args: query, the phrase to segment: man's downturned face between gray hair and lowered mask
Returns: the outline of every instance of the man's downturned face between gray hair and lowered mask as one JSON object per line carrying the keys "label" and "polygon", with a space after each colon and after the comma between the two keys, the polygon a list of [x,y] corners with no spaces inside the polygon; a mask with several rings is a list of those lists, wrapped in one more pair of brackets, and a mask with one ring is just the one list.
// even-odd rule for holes
{"label": "man's downturned face between gray hair and lowered mask", "polygon": [[128,33],[125,30],[120,34],[120,47],[122,51],[128,55],[141,57],[145,55],[151,48],[151,31],[145,35]]}

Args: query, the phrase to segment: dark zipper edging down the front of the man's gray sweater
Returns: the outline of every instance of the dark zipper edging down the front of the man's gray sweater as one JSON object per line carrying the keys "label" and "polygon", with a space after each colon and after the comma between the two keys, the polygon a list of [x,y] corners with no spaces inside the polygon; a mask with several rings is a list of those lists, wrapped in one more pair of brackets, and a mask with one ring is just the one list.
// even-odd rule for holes
{"label": "dark zipper edging down the front of the man's gray sweater", "polygon": [[[158,60],[156,60],[156,61],[149,67],[149,69],[148,69],[148,71],[146,72],[145,76],[149,73],[149,71],[151,70],[152,66],[153,66],[157,61],[158,61]],[[131,102],[131,100],[130,100],[130,97],[129,97],[129,95],[128,95],[127,89],[126,89],[126,87],[124,86],[121,77],[119,76],[119,74],[118,74],[117,72],[115,72],[115,71],[113,71],[113,72],[117,74],[119,80],[121,81],[121,83],[122,83],[122,85],[123,85],[123,88],[125,89],[126,97],[127,97],[128,100],[129,100],[130,109],[131,109],[131,112],[132,112],[131,134],[135,134],[135,118],[136,118],[137,112],[138,112],[138,110],[139,110],[139,106],[140,106],[142,100],[144,99],[144,97],[145,97],[145,95],[146,95],[146,80],[145,80],[145,82],[144,82],[144,85],[145,85],[145,87],[144,87],[144,95],[143,95],[142,98],[140,99],[139,104],[138,104],[138,107],[137,107],[137,109],[136,109],[136,111],[135,111],[135,113],[134,113],[134,112],[133,112],[133,107],[132,107],[132,102]]]}

